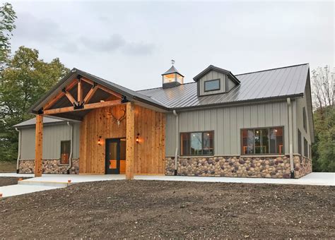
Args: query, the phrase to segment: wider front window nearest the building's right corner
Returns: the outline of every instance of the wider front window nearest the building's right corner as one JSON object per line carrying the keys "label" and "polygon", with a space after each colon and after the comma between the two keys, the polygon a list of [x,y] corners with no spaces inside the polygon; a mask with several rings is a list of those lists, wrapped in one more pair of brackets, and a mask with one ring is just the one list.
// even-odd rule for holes
{"label": "wider front window nearest the building's right corner", "polygon": [[283,154],[283,127],[242,129],[242,154]]}

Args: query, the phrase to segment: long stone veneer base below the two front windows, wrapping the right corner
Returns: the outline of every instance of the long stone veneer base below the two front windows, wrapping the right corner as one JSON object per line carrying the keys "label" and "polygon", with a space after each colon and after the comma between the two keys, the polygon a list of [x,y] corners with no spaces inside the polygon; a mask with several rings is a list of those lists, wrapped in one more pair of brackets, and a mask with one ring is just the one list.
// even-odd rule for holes
{"label": "long stone veneer base below the two front windows, wrapping the right corner", "polygon": [[[301,159],[301,160],[300,160]],[[165,174],[175,173],[175,157],[165,158]],[[295,178],[312,172],[312,163],[300,156],[294,157]],[[236,176],[290,178],[290,157],[179,157],[179,176]]]}

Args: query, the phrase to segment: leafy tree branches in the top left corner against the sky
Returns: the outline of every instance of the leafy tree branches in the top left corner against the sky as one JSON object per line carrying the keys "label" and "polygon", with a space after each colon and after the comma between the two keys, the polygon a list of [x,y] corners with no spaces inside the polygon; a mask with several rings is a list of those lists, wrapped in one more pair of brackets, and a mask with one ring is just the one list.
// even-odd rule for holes
{"label": "leafy tree branches in the top left corner against the sky", "polygon": [[0,7],[0,68],[4,68],[8,54],[11,52],[11,32],[16,28],[14,24],[16,13],[11,4],[5,3]]}

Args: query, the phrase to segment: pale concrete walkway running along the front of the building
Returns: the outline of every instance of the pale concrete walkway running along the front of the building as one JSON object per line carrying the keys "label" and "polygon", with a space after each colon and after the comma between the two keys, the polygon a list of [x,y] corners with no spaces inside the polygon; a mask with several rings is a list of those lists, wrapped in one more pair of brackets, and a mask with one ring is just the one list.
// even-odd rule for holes
{"label": "pale concrete walkway running along the front of the building", "polygon": [[[33,177],[33,174],[0,174],[1,176]],[[124,180],[125,175],[66,175],[66,174],[43,174],[40,177],[19,181],[18,185],[2,186],[0,193],[3,197],[15,196],[35,191],[44,191],[54,188],[64,188],[70,184],[77,184],[88,181],[111,181]],[[208,176],[146,176],[136,175],[136,180],[157,180],[157,181],[205,181],[221,183],[242,183],[242,184],[297,184],[297,185],[319,185],[335,186],[335,173],[313,172],[300,179],[257,179],[257,178],[236,178],[236,177],[208,177]],[[71,183],[68,183],[71,180]]]}

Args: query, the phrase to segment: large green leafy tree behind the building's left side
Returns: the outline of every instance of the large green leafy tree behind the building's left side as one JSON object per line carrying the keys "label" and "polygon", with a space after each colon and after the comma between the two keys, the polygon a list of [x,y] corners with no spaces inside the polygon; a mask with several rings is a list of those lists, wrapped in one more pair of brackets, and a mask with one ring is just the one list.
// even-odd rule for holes
{"label": "large green leafy tree behind the building's left side", "polygon": [[0,160],[16,159],[18,134],[12,126],[30,119],[30,106],[68,72],[59,59],[39,59],[36,49],[20,47],[8,60],[0,81]]}

